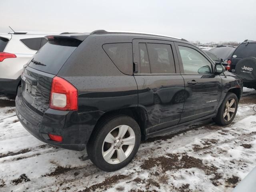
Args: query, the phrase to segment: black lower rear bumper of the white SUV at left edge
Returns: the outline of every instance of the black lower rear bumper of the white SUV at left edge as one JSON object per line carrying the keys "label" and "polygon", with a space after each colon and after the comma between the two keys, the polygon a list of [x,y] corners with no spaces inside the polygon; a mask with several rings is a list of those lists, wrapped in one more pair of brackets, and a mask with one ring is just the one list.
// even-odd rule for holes
{"label": "black lower rear bumper of the white SUV at left edge", "polygon": [[17,94],[17,88],[20,84],[20,77],[17,79],[0,78],[0,92],[4,94]]}

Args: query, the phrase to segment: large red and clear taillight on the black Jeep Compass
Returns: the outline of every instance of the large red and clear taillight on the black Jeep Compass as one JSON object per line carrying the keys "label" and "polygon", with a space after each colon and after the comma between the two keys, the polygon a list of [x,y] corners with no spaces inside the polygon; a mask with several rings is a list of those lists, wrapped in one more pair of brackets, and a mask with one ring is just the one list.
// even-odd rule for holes
{"label": "large red and clear taillight on the black Jeep Compass", "polygon": [[62,111],[78,110],[77,100],[78,91],[70,82],[58,76],[52,79],[50,108]]}

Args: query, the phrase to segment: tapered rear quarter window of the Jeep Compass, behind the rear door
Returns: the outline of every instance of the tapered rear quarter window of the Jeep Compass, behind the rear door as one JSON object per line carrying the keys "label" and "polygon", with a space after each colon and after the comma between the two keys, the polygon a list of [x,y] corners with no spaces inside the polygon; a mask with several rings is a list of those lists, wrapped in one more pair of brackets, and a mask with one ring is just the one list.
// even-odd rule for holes
{"label": "tapered rear quarter window of the Jeep Compass, behind the rear door", "polygon": [[108,57],[124,74],[132,72],[132,43],[110,43],[102,46]]}

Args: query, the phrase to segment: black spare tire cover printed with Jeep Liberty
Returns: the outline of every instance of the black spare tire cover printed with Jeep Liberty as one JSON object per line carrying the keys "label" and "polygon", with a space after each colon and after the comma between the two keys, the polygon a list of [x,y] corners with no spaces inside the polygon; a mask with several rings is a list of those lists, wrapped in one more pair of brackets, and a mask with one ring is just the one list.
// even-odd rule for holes
{"label": "black spare tire cover printed with Jeep Liberty", "polygon": [[236,74],[242,77],[245,82],[256,81],[256,58],[243,58],[236,64]]}

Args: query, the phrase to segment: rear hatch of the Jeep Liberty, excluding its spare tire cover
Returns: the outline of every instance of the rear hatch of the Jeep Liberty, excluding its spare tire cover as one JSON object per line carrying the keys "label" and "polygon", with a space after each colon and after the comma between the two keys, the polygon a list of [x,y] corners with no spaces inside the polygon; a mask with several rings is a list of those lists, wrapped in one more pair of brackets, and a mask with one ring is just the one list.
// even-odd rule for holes
{"label": "rear hatch of the Jeep Liberty, excluding its spare tire cover", "polygon": [[232,55],[231,72],[235,72],[238,61],[247,57],[256,57],[256,42],[243,42],[236,48]]}

